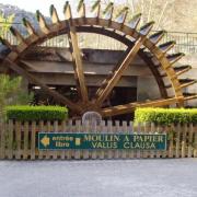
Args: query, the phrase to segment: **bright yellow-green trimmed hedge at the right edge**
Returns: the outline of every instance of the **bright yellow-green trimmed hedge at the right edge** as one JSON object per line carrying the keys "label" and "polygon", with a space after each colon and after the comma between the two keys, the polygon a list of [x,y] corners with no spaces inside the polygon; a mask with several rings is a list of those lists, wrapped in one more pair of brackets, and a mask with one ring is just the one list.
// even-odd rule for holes
{"label": "bright yellow-green trimmed hedge at the right edge", "polygon": [[137,108],[135,123],[197,124],[197,108]]}

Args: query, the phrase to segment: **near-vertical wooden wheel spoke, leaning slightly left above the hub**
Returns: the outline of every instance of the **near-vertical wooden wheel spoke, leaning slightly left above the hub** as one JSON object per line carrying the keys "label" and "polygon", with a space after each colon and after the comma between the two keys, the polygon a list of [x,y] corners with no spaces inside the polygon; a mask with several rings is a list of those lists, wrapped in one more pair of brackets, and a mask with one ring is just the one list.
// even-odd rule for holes
{"label": "near-vertical wooden wheel spoke, leaning slightly left above the hub", "polygon": [[71,26],[70,22],[68,22],[68,27],[69,27],[69,32],[68,32],[69,45],[70,45],[70,50],[72,54],[77,89],[78,89],[79,95],[82,99],[82,102],[86,103],[89,101],[89,95],[88,95],[88,89],[86,89],[85,79],[84,79],[81,50],[78,45],[78,36],[76,33],[76,27]]}

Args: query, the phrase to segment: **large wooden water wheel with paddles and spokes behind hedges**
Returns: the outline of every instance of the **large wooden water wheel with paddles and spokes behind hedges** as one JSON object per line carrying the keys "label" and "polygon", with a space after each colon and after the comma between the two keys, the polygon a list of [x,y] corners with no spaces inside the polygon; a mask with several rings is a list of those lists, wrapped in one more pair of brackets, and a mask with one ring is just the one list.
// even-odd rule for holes
{"label": "large wooden water wheel with paddles and spokes behind hedges", "polygon": [[[30,34],[27,37],[22,36],[16,28],[11,27],[11,33],[16,37],[20,44],[18,46],[12,46],[8,40],[1,38],[1,43],[10,49],[10,53],[3,58],[4,67],[8,67],[26,78],[31,83],[39,85],[43,91],[53,96],[54,100],[68,106],[70,111],[79,116],[88,111],[94,111],[100,113],[103,117],[108,117],[131,113],[136,107],[158,107],[169,106],[172,104],[184,106],[185,101],[197,97],[197,95],[185,96],[183,94],[183,89],[193,85],[196,81],[189,79],[181,81],[178,77],[187,72],[192,67],[174,67],[174,63],[178,61],[184,54],[167,54],[175,45],[175,42],[167,42],[159,45],[159,42],[165,34],[164,31],[149,35],[153,27],[153,22],[149,22],[139,28],[138,26],[141,14],[135,15],[128,21],[127,18],[129,15],[129,10],[128,8],[124,8],[120,14],[118,14],[118,18],[114,18],[113,3],[109,3],[103,13],[101,11],[100,1],[97,1],[92,9],[92,15],[94,16],[86,18],[86,10],[83,1],[79,4],[78,11],[80,16],[77,19],[72,18],[70,4],[69,2],[66,2],[63,9],[66,20],[60,21],[55,7],[51,5],[50,15],[53,24],[47,24],[43,14],[37,11],[36,15],[40,27],[39,31],[36,31],[31,22],[23,19],[24,26]],[[114,66],[111,74],[103,81],[95,92],[95,95],[91,99],[89,97],[85,77],[83,73],[83,51],[79,48],[78,33],[102,34],[115,38],[127,46],[124,58]],[[30,48],[62,34],[68,34],[69,47],[72,54],[72,65],[74,70],[73,78],[76,80],[76,89],[80,97],[76,103],[58,93],[56,90],[49,89],[47,84],[44,84],[38,78],[30,73],[25,69],[30,65],[22,59],[22,56]],[[137,55],[146,61],[147,66],[154,76],[159,85],[161,99],[104,107],[103,103],[109,96],[113,89],[120,80],[123,73],[128,67],[130,67]],[[169,84],[166,84],[165,81],[167,81]],[[167,95],[167,89],[173,90],[173,96]]]}

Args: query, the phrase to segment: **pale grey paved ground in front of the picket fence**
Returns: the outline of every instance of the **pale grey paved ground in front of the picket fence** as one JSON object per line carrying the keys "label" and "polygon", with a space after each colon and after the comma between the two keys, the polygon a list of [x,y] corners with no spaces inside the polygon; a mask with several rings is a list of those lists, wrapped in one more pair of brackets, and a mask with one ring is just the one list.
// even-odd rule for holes
{"label": "pale grey paved ground in front of the picket fence", "polygon": [[197,159],[0,161],[0,197],[197,197]]}

